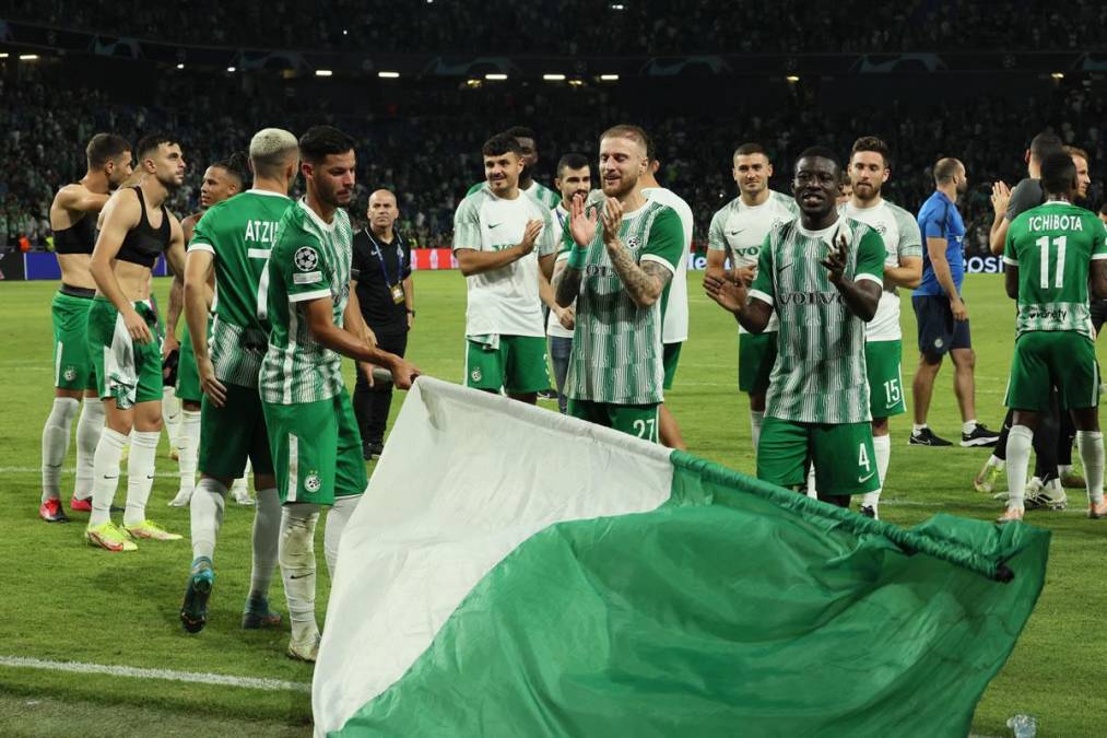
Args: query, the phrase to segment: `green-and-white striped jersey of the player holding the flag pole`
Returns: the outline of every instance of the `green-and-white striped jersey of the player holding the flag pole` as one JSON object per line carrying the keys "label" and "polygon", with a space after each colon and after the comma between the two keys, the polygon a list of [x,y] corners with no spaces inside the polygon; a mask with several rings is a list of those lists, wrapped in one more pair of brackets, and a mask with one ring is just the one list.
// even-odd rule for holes
{"label": "green-and-white striped jersey of the player holding the flag pole", "polygon": [[345,211],[323,222],[300,201],[280,222],[269,257],[269,351],[261,366],[261,399],[276,404],[315,402],[342,391],[342,357],[317,344],[299,303],[327,299],[334,325],[350,298],[353,233]]}

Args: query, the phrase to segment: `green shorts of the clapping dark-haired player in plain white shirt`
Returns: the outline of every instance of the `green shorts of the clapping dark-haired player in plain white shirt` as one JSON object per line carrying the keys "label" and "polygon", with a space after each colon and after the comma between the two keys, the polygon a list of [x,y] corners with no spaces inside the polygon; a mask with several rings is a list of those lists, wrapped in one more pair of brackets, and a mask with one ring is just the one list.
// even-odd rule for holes
{"label": "green shorts of the clapping dark-haired player in plain white shirt", "polygon": [[550,387],[546,339],[538,336],[500,336],[489,348],[466,340],[465,386],[513,394],[538,392]]}

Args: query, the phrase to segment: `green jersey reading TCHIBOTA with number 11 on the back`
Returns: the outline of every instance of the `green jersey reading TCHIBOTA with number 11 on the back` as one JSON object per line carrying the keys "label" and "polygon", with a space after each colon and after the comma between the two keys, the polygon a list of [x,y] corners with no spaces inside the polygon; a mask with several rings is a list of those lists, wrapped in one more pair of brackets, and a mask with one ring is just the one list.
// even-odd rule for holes
{"label": "green jersey reading TCHIBOTA with number 11 on the back", "polygon": [[1090,211],[1052,201],[1007,229],[1003,262],[1018,267],[1017,336],[1070,330],[1095,340],[1088,307],[1092,262],[1107,258],[1104,225]]}

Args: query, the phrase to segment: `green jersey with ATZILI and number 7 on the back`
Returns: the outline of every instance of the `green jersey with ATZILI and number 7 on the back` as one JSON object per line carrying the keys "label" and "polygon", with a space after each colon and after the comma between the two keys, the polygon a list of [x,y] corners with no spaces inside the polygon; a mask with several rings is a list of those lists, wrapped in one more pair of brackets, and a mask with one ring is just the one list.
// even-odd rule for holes
{"label": "green jersey with ATZILI and number 7 on the back", "polygon": [[215,257],[211,365],[219,381],[257,387],[269,348],[266,265],[277,225],[292,205],[284,195],[248,189],[213,205],[193,232],[189,250]]}

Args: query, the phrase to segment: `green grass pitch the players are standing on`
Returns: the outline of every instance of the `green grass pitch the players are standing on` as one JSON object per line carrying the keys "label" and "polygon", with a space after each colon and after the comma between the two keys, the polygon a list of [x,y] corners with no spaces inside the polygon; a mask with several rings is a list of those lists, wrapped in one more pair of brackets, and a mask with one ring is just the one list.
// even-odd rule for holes
{"label": "green grass pitch the players are standing on", "polygon": [[[736,390],[733,318],[702,296],[690,275],[692,331],[669,407],[690,449],[752,473],[748,407]],[[463,366],[465,283],[456,271],[415,276],[418,318],[408,357],[424,372],[458,381]],[[135,554],[85,545],[84,514],[68,525],[37,515],[40,439],[52,397],[50,300],[53,283],[0,285],[0,664],[11,657],[173,669],[308,684],[311,667],[284,657],[287,632],[244,632],[239,613],[249,584],[252,509],[228,503],[216,552],[210,619],[199,635],[184,633],[177,609],[190,561],[188,511],[166,506],[176,491],[176,463],[163,449],[149,515],[186,534],[175,543],[146,543]],[[164,306],[168,288],[156,280]],[[965,288],[977,352],[977,417],[997,428],[1014,336],[1013,307],[1002,277],[970,276]],[[904,296],[903,381],[913,375],[914,316]],[[1100,348],[1100,352],[1103,349]],[[1100,356],[1100,362],[1103,357]],[[348,367],[348,373],[350,369]],[[939,376],[930,424],[951,440],[960,432],[952,367]],[[393,403],[397,411],[402,398]],[[908,394],[910,403],[910,394]],[[549,403],[546,407],[551,407]],[[937,512],[992,519],[1001,503],[972,489],[987,458],[983,449],[908,447],[910,416],[892,420],[892,458],[882,516],[913,525]],[[62,494],[72,492],[71,444]],[[122,504],[125,484],[116,500]],[[1066,512],[1031,511],[1027,521],[1054,533],[1045,590],[1006,667],[980,704],[974,732],[1007,735],[1015,713],[1038,718],[1042,736],[1101,734],[1107,697],[1099,689],[1107,612],[1099,578],[1107,522],[1085,517],[1085,495],[1069,491]],[[321,544],[322,536],[318,536]],[[320,550],[319,565],[323,567]],[[284,612],[279,574],[272,602]],[[327,602],[321,575],[320,608]],[[309,736],[309,695],[300,690],[186,684],[173,680],[70,674],[0,665],[0,735],[73,736]]]}

